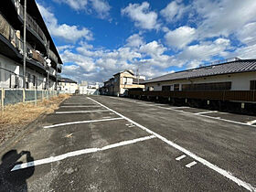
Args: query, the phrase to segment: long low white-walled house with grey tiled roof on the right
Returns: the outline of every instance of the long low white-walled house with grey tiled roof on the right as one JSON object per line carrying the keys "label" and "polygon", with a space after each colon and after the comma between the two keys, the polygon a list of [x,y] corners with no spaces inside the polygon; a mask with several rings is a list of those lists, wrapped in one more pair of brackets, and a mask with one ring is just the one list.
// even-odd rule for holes
{"label": "long low white-walled house with grey tiled roof on the right", "polygon": [[256,90],[256,59],[226,59],[144,80],[146,91]]}

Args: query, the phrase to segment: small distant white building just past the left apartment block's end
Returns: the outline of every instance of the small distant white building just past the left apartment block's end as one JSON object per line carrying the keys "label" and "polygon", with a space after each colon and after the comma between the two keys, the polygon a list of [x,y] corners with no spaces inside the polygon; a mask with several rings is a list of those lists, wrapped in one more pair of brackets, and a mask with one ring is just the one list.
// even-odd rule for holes
{"label": "small distant white building just past the left apartment block's end", "polygon": [[69,78],[62,78],[59,80],[59,91],[62,93],[74,94],[79,90],[77,81],[70,80]]}

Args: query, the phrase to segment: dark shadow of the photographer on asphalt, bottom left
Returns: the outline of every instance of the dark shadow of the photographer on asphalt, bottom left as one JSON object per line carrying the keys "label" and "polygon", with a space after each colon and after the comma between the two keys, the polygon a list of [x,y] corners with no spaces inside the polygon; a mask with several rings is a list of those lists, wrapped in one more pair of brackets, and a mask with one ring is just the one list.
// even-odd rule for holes
{"label": "dark shadow of the photographer on asphalt, bottom left", "polygon": [[33,176],[35,166],[11,171],[15,165],[24,163],[18,161],[18,159],[23,155],[26,155],[27,162],[34,161],[34,158],[28,151],[22,151],[21,153],[17,154],[16,150],[10,150],[2,156],[2,163],[0,165],[0,192],[27,192],[27,178]]}

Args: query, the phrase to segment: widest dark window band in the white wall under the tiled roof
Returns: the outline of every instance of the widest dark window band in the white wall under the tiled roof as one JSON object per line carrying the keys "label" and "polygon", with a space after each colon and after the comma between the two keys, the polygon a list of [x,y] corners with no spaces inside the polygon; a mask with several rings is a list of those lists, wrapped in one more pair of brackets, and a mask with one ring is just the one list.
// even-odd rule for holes
{"label": "widest dark window band in the white wall under the tiled roof", "polygon": [[231,82],[183,84],[182,91],[224,91],[231,90]]}

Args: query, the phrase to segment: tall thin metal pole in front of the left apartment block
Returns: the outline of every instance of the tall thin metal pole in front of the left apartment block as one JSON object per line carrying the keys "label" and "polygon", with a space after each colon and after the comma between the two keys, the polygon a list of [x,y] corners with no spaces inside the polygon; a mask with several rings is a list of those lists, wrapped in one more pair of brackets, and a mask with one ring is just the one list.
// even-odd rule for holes
{"label": "tall thin metal pole in front of the left apartment block", "polygon": [[23,19],[23,88],[26,89],[26,27],[27,26],[27,0],[24,0],[24,19]]}

